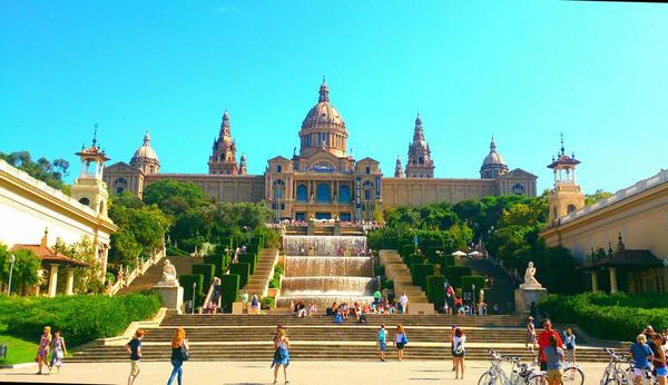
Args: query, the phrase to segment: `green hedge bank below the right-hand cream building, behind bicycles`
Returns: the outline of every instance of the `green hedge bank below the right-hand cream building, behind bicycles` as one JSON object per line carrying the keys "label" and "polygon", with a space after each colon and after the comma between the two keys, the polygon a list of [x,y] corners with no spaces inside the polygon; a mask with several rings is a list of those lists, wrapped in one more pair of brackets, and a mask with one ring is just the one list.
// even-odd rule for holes
{"label": "green hedge bank below the right-hand cream building, behind bicycles", "polygon": [[592,337],[632,342],[647,325],[655,330],[668,327],[667,303],[668,296],[659,294],[552,294],[540,300],[539,309],[556,323],[578,324]]}

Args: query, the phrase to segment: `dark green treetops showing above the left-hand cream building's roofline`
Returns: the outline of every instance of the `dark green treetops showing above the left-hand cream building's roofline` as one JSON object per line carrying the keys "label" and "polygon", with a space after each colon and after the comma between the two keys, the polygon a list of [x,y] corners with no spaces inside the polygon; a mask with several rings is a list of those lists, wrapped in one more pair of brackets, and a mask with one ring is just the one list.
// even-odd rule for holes
{"label": "dark green treetops showing above the left-hand cream building's roofline", "polygon": [[0,151],[0,159],[28,172],[35,179],[39,179],[55,189],[69,191],[69,186],[62,181],[62,177],[69,175],[69,162],[65,159],[49,161],[42,157],[35,161],[29,151],[14,151],[11,154]]}

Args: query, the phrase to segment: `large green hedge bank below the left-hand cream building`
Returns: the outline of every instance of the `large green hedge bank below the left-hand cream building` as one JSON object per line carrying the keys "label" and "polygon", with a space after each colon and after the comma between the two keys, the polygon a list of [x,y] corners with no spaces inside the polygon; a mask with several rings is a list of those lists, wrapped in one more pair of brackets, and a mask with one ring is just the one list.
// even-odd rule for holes
{"label": "large green hedge bank below the left-hand cream building", "polygon": [[[61,329],[75,347],[96,338],[120,335],[131,322],[150,319],[160,308],[157,294],[0,297],[0,325],[7,332],[38,340],[45,326]],[[37,338],[37,339],[36,339]],[[11,347],[10,347],[11,348]]]}

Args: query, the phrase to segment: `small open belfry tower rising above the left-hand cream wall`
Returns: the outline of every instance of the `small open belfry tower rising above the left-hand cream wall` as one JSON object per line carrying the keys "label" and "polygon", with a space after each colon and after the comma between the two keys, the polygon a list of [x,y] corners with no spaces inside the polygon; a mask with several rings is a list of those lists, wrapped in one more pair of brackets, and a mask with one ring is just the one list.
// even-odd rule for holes
{"label": "small open belfry tower rising above the left-hand cream wall", "polygon": [[97,124],[92,136],[92,145],[88,148],[81,146],[76,155],[81,159],[81,171],[71,187],[71,197],[80,204],[94,209],[100,217],[107,218],[107,200],[109,192],[107,184],[102,180],[105,161],[109,160],[97,141]]}

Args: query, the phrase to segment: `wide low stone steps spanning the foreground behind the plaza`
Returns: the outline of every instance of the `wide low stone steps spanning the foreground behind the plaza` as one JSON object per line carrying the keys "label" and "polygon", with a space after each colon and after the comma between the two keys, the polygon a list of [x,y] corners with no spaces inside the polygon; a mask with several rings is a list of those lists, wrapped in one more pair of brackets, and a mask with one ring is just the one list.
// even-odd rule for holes
{"label": "wide low stone steps spanning the foreground behind the plaza", "polygon": [[[466,357],[484,361],[488,351],[517,355],[530,361],[524,347],[522,316],[444,316],[444,315],[370,315],[369,324],[350,319],[342,325],[324,315],[295,318],[292,315],[176,315],[168,314],[159,327],[148,328],[143,343],[143,361],[170,357],[169,342],[176,327],[185,327],[190,342],[191,361],[262,361],[273,356],[272,339],[276,325],[286,328],[291,338],[291,357],[295,361],[371,361],[377,359],[377,325],[385,323],[389,339],[397,324],[406,328],[410,343],[405,359],[450,359],[449,336],[452,325],[466,334]],[[605,362],[608,356],[597,347],[584,346],[579,338],[580,362]],[[98,340],[76,351],[69,362],[125,362],[125,342],[105,345]],[[389,347],[393,354],[393,347]]]}

